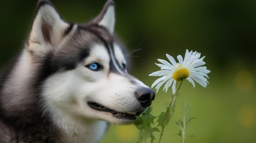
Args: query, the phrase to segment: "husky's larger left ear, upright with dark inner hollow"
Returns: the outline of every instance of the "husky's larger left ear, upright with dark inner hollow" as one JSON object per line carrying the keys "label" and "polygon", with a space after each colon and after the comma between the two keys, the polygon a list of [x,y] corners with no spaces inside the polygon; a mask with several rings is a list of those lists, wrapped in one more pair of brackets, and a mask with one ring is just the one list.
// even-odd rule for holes
{"label": "husky's larger left ear, upright with dark inner hollow", "polygon": [[48,0],[39,0],[29,37],[29,44],[56,45],[61,41],[69,24],[64,22],[53,4]]}

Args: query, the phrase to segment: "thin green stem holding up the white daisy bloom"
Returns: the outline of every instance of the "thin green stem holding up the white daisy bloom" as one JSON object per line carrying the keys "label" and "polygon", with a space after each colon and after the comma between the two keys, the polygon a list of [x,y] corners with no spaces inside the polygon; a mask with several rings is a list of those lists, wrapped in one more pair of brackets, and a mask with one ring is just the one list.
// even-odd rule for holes
{"label": "thin green stem holding up the white daisy bloom", "polygon": [[[183,81],[183,80],[182,80],[182,81]],[[168,118],[169,118],[171,109],[173,108],[173,103],[174,103],[174,101],[175,101],[175,99],[176,99],[176,97],[177,97],[177,95],[178,95],[178,91],[180,90],[182,81],[179,81],[179,84],[178,84],[178,86],[177,86],[177,88],[176,88],[176,90],[175,90],[175,92],[174,92],[173,99],[171,98],[171,100],[169,101],[169,105],[170,105],[170,104],[171,104],[171,105],[170,105],[169,110],[168,110],[168,112],[167,112],[167,116],[166,116],[166,119],[165,119],[165,121],[164,121],[164,126],[163,126],[163,128],[162,128],[162,132],[161,132],[161,134],[160,134],[158,143],[161,142],[162,136],[163,136],[163,134],[164,134],[164,128],[165,128],[166,123],[167,123],[167,121],[168,121]]]}

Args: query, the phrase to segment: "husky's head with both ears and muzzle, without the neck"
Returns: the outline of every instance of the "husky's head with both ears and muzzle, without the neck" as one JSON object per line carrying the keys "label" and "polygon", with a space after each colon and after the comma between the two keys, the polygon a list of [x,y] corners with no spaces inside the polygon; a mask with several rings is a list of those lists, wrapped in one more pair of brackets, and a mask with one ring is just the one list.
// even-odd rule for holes
{"label": "husky's head with both ears and muzzle, without the neck", "polygon": [[49,1],[38,2],[27,50],[43,67],[43,108],[52,120],[125,124],[150,106],[155,93],[127,73],[128,55],[113,36],[114,25],[112,1],[87,24],[64,22]]}

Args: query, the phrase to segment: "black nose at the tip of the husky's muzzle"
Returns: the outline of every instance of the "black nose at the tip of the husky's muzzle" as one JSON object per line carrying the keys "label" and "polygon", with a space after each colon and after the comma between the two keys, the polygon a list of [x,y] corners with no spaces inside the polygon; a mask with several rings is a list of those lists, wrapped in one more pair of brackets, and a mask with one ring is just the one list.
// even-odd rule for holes
{"label": "black nose at the tip of the husky's muzzle", "polygon": [[155,99],[155,92],[150,88],[140,88],[137,90],[136,95],[143,107],[150,106],[152,100]]}

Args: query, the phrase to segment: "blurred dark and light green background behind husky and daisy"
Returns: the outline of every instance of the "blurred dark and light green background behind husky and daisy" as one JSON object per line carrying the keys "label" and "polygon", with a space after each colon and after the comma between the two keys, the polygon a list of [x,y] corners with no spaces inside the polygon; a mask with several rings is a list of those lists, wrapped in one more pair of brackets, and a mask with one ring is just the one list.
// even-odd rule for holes
{"label": "blurred dark and light green background behind husky and daisy", "polygon": [[[51,0],[66,21],[87,22],[105,0]],[[0,72],[29,35],[36,0],[5,0],[0,4]],[[131,57],[130,73],[150,86],[159,70],[157,58],[184,56],[185,50],[205,55],[209,85],[184,82],[173,120],[180,119],[183,99],[191,103],[187,143],[249,143],[256,141],[256,1],[255,0],[116,0],[115,33]],[[171,92],[171,90],[168,90]],[[153,114],[162,112],[169,93],[158,92]],[[162,143],[181,141],[170,122]],[[158,139],[159,134],[155,134]],[[100,143],[135,143],[133,125],[111,125]]]}

